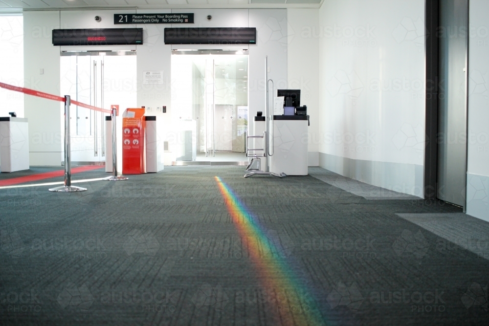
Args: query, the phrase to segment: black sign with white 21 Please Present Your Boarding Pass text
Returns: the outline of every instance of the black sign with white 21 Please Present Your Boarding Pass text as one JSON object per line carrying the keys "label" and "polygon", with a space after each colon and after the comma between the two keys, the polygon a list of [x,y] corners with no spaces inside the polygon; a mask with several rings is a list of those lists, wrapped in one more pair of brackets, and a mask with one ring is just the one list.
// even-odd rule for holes
{"label": "black sign with white 21 Please Present Your Boarding Pass text", "polygon": [[114,14],[114,24],[193,24],[194,14]]}

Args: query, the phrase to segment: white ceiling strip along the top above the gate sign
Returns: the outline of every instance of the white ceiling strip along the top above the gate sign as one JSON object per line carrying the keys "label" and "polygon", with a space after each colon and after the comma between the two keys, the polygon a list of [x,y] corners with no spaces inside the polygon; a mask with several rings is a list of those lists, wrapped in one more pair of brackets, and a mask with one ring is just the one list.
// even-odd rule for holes
{"label": "white ceiling strip along the top above the gate sign", "polygon": [[323,0],[0,0],[0,10],[78,8],[318,8]]}

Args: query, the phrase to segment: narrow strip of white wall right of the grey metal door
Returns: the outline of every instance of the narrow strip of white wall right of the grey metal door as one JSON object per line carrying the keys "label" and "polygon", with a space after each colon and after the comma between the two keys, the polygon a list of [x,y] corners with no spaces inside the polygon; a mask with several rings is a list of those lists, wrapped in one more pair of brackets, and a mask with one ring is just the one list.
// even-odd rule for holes
{"label": "narrow strip of white wall right of the grey metal door", "polygon": [[467,214],[489,221],[489,6],[469,3]]}

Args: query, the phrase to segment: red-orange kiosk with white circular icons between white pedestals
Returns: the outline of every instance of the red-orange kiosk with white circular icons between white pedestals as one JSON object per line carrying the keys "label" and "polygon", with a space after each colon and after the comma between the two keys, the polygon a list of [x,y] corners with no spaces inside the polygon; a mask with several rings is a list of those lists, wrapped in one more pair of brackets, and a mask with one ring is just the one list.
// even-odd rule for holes
{"label": "red-orange kiosk with white circular icons between white pedestals", "polygon": [[146,173],[144,108],[126,109],[122,116],[122,174]]}

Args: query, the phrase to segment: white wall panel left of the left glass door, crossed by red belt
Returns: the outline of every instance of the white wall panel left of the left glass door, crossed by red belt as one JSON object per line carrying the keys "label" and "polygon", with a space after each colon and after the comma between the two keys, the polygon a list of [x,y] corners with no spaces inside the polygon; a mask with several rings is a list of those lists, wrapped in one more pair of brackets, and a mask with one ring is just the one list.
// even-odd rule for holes
{"label": "white wall panel left of the left glass door, crossed by red belt", "polygon": [[[26,11],[24,23],[24,87],[60,93],[60,48],[52,44],[52,29],[59,28],[59,11]],[[44,69],[44,73],[40,73]],[[61,102],[24,96],[29,119],[29,163],[61,165]]]}

